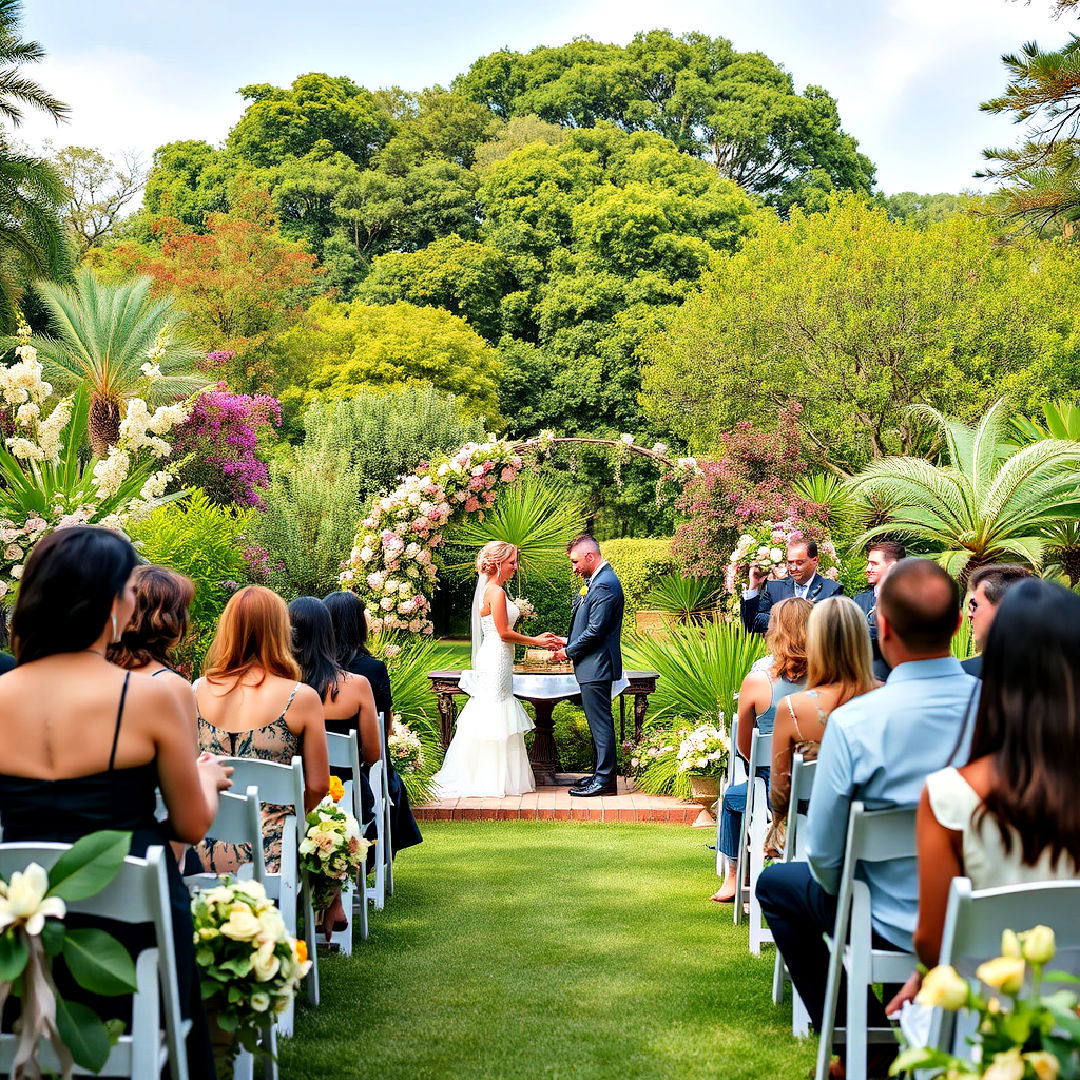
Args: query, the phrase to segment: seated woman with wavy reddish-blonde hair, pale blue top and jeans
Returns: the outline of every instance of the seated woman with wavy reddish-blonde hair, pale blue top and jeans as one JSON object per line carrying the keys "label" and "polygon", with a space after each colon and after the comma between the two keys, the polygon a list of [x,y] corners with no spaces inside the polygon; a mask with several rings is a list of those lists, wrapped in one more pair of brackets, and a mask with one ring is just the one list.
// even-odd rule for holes
{"label": "seated woman with wavy reddish-blonde hair, pale blue top and jeans", "polygon": [[[777,702],[806,684],[807,620],[813,605],[807,599],[789,596],[772,606],[769,633],[765,640],[772,664],[764,671],[751,671],[739,690],[739,745],[743,757],[750,756],[755,726],[762,734],[771,734],[777,716]],[[769,783],[769,770],[758,773]],[[719,849],[725,856],[724,883],[713,893],[718,904],[729,904],[738,892],[735,859],[742,841],[739,823],[746,809],[746,785],[732,784],[725,793],[720,807]]]}

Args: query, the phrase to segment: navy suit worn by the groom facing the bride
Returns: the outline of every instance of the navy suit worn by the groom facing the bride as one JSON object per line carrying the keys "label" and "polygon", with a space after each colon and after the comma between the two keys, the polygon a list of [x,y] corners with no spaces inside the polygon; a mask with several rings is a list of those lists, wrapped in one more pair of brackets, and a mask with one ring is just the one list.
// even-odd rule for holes
{"label": "navy suit worn by the groom facing the bride", "polygon": [[622,678],[622,585],[605,563],[589,580],[584,596],[573,600],[566,654],[581,687],[581,704],[596,748],[596,782],[613,784],[615,718],[611,684]]}

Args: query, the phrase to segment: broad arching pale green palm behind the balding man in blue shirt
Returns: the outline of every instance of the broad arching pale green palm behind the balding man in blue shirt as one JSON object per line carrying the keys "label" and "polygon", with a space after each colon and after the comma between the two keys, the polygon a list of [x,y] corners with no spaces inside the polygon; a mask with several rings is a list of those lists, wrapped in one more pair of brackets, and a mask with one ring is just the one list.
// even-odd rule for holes
{"label": "broad arching pale green palm behind the balding man in blue shirt", "polygon": [[961,585],[1001,558],[1040,566],[1050,530],[1080,511],[1080,443],[1043,438],[1017,449],[1007,440],[1004,402],[975,428],[917,410],[940,430],[947,463],[883,458],[855,476],[856,491],[891,508],[861,542],[887,532],[929,542]]}

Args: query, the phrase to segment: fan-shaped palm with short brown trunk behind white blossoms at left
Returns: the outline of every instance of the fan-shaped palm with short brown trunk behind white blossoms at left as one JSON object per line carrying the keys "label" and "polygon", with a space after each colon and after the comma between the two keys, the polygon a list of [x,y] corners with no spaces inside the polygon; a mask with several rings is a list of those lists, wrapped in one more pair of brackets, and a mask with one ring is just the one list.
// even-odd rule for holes
{"label": "fan-shaped palm with short brown trunk behind white blossoms at left", "polygon": [[[100,458],[117,441],[121,406],[129,399],[161,404],[207,383],[194,370],[202,351],[178,337],[186,316],[172,297],[151,297],[151,285],[150,278],[106,285],[93,271],[81,270],[73,287],[37,286],[51,334],[31,343],[45,378],[59,392],[80,386],[90,391],[90,443]],[[156,348],[161,377],[151,380],[143,366]]]}

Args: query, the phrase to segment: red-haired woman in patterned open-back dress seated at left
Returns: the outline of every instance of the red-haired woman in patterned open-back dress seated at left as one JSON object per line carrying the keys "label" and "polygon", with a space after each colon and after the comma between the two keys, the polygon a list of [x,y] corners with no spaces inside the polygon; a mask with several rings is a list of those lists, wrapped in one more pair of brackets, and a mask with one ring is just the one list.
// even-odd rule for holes
{"label": "red-haired woman in patterned open-back dress seated at left", "polygon": [[[303,760],[303,809],[318,806],[329,791],[326,728],[319,694],[305,686],[293,659],[292,627],[285,602],[262,585],[232,594],[195,683],[199,745],[221,757],[255,757],[279,765]],[[286,807],[262,804],[262,848],[267,872],[281,866]],[[201,845],[204,867],[232,873],[247,853],[207,837]]]}

